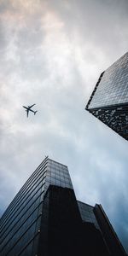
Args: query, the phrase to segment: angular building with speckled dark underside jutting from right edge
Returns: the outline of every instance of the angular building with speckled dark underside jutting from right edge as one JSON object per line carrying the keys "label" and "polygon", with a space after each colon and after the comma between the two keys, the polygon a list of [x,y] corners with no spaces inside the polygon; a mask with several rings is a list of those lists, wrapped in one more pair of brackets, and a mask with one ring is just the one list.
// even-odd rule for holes
{"label": "angular building with speckled dark underside jutting from right edge", "polygon": [[128,140],[128,52],[101,74],[85,109]]}

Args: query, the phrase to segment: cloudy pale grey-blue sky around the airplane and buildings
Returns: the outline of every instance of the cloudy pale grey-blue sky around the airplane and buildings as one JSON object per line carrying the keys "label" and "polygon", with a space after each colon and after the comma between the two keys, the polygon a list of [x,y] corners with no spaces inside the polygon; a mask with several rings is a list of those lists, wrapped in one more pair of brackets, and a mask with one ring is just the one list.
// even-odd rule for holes
{"label": "cloudy pale grey-blue sky around the airplane and buildings", "polygon": [[128,142],[84,109],[127,27],[127,0],[0,0],[0,215],[49,155],[128,251]]}

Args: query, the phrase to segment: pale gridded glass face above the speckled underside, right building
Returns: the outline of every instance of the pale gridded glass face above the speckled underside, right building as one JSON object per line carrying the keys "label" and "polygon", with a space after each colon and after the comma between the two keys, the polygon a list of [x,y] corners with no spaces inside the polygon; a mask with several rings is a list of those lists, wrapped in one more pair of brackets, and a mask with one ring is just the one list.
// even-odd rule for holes
{"label": "pale gridded glass face above the speckled underside, right building", "polygon": [[103,73],[89,108],[128,103],[128,52]]}

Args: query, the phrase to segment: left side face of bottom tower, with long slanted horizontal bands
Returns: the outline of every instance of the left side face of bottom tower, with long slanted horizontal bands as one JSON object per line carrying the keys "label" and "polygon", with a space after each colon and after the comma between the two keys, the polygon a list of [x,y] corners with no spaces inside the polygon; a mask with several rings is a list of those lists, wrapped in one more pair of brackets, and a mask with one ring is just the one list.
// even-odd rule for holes
{"label": "left side face of bottom tower, with long slanted horizontal bands", "polygon": [[0,220],[0,255],[35,255],[47,160],[38,166]]}

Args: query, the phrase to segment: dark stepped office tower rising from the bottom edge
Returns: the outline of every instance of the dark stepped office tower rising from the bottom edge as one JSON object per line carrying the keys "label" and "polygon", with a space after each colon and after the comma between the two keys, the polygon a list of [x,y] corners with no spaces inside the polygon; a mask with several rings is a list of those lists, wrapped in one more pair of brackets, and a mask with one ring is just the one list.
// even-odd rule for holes
{"label": "dark stepped office tower rising from the bottom edge", "polygon": [[0,219],[1,256],[123,256],[101,205],[77,201],[67,166],[44,159]]}

